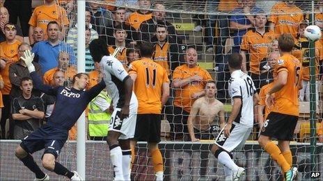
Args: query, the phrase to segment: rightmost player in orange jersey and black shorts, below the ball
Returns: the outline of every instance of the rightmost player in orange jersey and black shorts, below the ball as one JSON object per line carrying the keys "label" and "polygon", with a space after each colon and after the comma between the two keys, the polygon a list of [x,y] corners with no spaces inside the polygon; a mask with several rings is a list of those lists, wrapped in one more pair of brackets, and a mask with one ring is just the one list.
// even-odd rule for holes
{"label": "rightmost player in orange jersey and black shorts, below the ball", "polygon": [[[294,37],[283,34],[278,39],[281,58],[275,65],[274,85],[266,95],[266,105],[271,109],[262,127],[258,142],[262,148],[281,166],[285,180],[293,180],[297,168],[292,167],[290,141],[299,118],[299,89],[301,89],[303,71],[301,63],[291,53]],[[278,146],[271,141],[278,139]]]}

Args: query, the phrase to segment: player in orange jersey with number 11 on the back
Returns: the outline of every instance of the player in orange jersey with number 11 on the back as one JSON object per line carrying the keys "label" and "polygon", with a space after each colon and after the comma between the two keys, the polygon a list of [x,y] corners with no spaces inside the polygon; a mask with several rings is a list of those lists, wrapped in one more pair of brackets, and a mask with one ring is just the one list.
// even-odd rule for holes
{"label": "player in orange jersey with number 11 on the back", "polygon": [[[141,44],[141,60],[129,65],[129,76],[134,80],[134,93],[138,98],[138,115],[134,141],[147,141],[152,155],[156,180],[163,180],[164,164],[158,143],[160,142],[161,107],[169,96],[169,80],[166,70],[151,57],[154,46],[149,42]],[[143,88],[144,87],[144,88]]]}

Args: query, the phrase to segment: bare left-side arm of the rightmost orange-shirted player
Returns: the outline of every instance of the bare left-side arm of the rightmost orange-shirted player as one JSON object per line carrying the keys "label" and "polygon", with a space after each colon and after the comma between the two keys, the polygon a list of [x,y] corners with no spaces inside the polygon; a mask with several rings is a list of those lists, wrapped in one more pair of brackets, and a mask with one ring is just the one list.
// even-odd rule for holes
{"label": "bare left-side arm of the rightmost orange-shirted player", "polygon": [[287,83],[287,71],[280,71],[277,75],[277,81],[274,86],[266,94],[266,105],[270,108],[274,105],[274,93],[278,92]]}

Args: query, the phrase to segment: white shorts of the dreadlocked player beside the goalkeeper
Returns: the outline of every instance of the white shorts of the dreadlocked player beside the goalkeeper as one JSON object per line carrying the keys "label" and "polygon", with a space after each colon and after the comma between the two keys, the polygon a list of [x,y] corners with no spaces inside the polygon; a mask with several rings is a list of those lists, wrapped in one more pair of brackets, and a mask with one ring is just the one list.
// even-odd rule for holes
{"label": "white shorts of the dreadlocked player beside the goalkeeper", "polygon": [[[130,139],[134,137],[134,130],[136,128],[137,114],[130,110],[129,117],[121,120],[118,115],[121,109],[115,108],[111,115],[111,121],[109,124],[109,131],[113,130],[121,132],[119,139]],[[109,135],[109,134],[108,134]]]}

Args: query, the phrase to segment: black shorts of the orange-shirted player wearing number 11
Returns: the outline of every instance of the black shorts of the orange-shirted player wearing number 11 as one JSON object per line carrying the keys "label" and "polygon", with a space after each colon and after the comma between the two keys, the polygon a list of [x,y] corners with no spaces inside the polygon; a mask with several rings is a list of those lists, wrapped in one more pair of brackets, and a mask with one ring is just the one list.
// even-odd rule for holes
{"label": "black shorts of the orange-shirted player wearing number 11", "polygon": [[134,140],[160,142],[161,114],[137,114]]}

